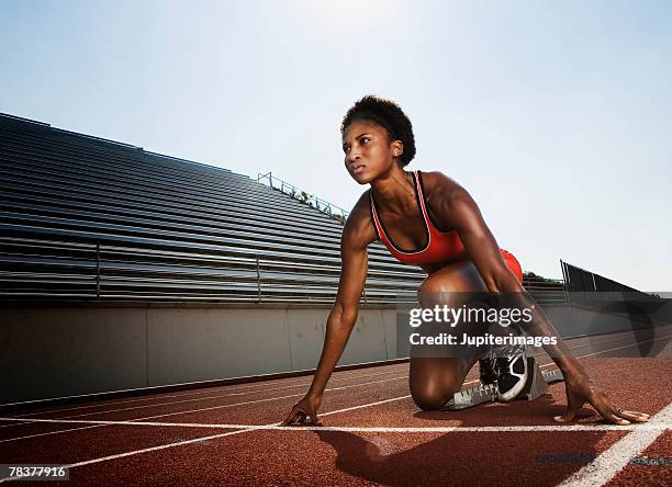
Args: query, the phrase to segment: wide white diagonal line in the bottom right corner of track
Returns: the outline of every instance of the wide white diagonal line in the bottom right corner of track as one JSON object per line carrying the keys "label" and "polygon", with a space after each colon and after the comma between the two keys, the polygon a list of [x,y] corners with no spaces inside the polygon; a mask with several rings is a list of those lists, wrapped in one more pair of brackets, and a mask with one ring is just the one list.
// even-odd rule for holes
{"label": "wide white diagonal line in the bottom right corner of track", "polygon": [[[616,476],[632,458],[643,452],[672,422],[672,404],[653,416],[649,424],[653,428],[637,428],[627,437],[618,440],[580,471],[568,477],[560,486],[581,487],[605,485]],[[658,427],[658,428],[657,428]]]}

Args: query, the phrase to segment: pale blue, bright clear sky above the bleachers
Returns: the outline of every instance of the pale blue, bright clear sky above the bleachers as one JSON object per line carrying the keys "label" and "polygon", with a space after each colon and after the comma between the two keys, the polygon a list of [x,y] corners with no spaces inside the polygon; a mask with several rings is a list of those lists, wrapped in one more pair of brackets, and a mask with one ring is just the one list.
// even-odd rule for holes
{"label": "pale blue, bright clear sky above the bleachers", "polygon": [[0,0],[1,112],[350,208],[338,126],[379,94],[525,270],[643,291],[672,290],[671,87],[670,1]]}

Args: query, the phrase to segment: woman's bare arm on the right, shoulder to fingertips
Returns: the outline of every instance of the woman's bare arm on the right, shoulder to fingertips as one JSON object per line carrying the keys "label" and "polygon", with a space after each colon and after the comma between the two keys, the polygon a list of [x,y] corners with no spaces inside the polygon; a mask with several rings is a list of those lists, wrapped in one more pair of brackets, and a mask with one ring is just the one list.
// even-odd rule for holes
{"label": "woman's bare arm on the right, shoulder to fingertips", "polygon": [[[435,191],[432,192],[433,208],[437,211],[441,220],[456,228],[488,290],[495,294],[507,293],[506,299],[512,307],[530,309],[531,320],[520,321],[520,326],[528,335],[557,337],[556,344],[544,346],[544,350],[558,364],[565,380],[568,410],[563,417],[557,419],[571,421],[587,401],[609,421],[616,423],[627,423],[628,420],[646,421],[647,415],[616,408],[606,395],[592,384],[583,365],[572,355],[546,314],[506,267],[500,246],[467,190],[440,173],[433,173],[433,179],[435,186]],[[436,191],[439,188],[440,191]]]}

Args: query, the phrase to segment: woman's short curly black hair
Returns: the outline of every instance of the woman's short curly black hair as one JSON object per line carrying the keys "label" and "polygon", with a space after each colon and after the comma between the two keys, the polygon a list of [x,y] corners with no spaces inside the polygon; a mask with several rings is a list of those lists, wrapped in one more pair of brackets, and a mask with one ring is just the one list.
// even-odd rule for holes
{"label": "woman's short curly black hair", "polygon": [[345,135],[348,126],[356,120],[373,122],[388,132],[388,139],[401,140],[404,151],[400,159],[406,166],[415,157],[415,137],[413,125],[402,109],[391,100],[368,94],[357,101],[340,123],[340,135]]}

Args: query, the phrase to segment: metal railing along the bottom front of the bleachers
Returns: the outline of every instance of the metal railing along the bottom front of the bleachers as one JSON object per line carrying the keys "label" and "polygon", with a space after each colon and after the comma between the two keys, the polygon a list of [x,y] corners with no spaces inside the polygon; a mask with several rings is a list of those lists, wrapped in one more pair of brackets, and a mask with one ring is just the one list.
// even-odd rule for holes
{"label": "metal railing along the bottom front of the bleachers", "polygon": [[[340,265],[102,242],[0,242],[0,301],[333,303]],[[24,244],[24,245],[22,245]],[[25,245],[30,244],[30,245]],[[419,273],[371,269],[363,304],[411,302]]]}

